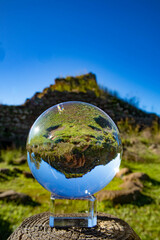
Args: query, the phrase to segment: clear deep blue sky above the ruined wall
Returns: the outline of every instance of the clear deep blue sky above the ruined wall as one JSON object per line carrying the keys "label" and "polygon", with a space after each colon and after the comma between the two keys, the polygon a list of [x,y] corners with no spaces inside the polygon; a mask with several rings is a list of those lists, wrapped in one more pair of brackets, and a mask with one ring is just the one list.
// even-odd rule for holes
{"label": "clear deep blue sky above the ruined wall", "polygon": [[160,1],[0,0],[0,103],[87,72],[160,114]]}

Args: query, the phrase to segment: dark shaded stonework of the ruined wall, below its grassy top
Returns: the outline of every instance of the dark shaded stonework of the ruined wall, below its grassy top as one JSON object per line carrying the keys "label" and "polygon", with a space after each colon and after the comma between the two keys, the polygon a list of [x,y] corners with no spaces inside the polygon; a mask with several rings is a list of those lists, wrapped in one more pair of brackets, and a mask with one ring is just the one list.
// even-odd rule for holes
{"label": "dark shaded stonework of the ruined wall, below its grassy top", "polygon": [[141,111],[107,93],[96,97],[92,91],[77,93],[48,89],[43,97],[38,96],[39,94],[35,94],[20,106],[0,105],[0,147],[24,146],[29,129],[36,118],[49,107],[66,101],[91,103],[104,110],[116,123],[127,118],[132,124],[143,128],[151,126],[155,119],[159,121],[155,114]]}

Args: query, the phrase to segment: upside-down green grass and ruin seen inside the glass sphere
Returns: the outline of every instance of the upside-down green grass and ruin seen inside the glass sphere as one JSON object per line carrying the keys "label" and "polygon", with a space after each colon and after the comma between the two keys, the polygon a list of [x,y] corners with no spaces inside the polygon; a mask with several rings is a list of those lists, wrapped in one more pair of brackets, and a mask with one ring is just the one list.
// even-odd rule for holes
{"label": "upside-down green grass and ruin seen inside the glass sphere", "polygon": [[122,146],[118,129],[106,113],[91,104],[66,102],[36,120],[27,150],[37,168],[43,160],[67,178],[75,178],[106,165]]}

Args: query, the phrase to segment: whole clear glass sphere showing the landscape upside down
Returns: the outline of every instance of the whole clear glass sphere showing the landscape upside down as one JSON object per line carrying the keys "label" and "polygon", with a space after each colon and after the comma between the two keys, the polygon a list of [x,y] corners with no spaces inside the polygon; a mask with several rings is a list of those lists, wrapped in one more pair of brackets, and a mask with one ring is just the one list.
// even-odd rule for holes
{"label": "whole clear glass sphere showing the landscape upside down", "polygon": [[112,119],[84,102],[64,102],[42,113],[27,139],[28,164],[37,181],[62,198],[104,188],[121,162],[122,144]]}

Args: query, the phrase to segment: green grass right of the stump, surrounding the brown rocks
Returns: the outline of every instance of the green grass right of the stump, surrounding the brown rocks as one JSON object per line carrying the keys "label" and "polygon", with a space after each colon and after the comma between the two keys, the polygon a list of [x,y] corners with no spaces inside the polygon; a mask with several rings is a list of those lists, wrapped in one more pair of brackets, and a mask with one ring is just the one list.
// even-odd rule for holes
{"label": "green grass right of the stump, surrounding the brown rocks", "polygon": [[[103,201],[99,203],[99,211],[113,214],[125,220],[141,237],[142,240],[159,240],[160,236],[160,165],[159,163],[130,163],[122,162],[135,172],[147,173],[152,181],[146,182],[143,194],[152,198],[150,204],[145,204],[144,199],[140,202],[125,205],[113,205]],[[117,181],[117,179],[115,178]],[[107,188],[112,189],[113,180]],[[144,205],[143,205],[144,204]],[[142,206],[141,206],[142,205]]]}

